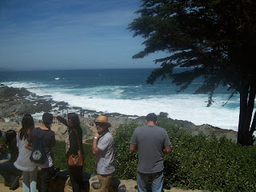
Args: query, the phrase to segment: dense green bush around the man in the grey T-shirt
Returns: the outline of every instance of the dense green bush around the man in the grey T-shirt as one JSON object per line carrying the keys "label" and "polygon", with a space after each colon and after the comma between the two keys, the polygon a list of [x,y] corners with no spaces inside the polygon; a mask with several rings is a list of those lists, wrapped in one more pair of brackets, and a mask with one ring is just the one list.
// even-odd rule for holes
{"label": "dense green bush around the man in the grey T-shirt", "polygon": [[[138,124],[119,126],[114,134],[115,176],[135,179],[138,154],[129,152],[130,138]],[[169,186],[191,190],[256,190],[256,150],[214,135],[196,135],[182,130],[167,118],[158,126],[166,129],[171,154],[164,154],[164,181]]]}

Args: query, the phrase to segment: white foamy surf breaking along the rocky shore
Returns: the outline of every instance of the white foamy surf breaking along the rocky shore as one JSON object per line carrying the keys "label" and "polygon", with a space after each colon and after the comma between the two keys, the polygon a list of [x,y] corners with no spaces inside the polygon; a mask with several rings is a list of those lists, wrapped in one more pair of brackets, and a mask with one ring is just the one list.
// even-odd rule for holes
{"label": "white foamy surf breaking along the rocky shore", "polygon": [[[6,82],[5,82],[6,84]],[[79,106],[82,109],[120,113],[128,115],[146,115],[151,112],[159,114],[166,112],[170,118],[187,120],[195,125],[210,124],[227,130],[238,130],[239,108],[222,107],[226,98],[216,95],[214,103],[206,107],[206,94],[170,94],[170,95],[136,95],[134,98],[121,99],[124,92],[122,86],[94,86],[84,89],[65,89],[48,87],[38,83],[12,82],[6,84],[13,87],[25,87],[40,96],[51,95],[54,101],[68,102],[70,106]],[[47,89],[45,89],[47,87]],[[139,86],[138,86],[139,88]],[[154,93],[154,92],[153,92]],[[238,98],[233,98],[230,104],[239,103]],[[238,106],[238,105],[237,105]],[[55,109],[57,110],[57,109]],[[42,118],[42,114],[36,114]]]}

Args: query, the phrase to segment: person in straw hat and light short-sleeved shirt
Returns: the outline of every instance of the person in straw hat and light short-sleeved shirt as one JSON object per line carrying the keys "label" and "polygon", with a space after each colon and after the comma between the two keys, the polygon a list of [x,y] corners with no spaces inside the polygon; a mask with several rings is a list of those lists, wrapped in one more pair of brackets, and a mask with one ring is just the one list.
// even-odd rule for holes
{"label": "person in straw hat and light short-sleeved shirt", "polygon": [[110,134],[108,118],[99,115],[94,121],[98,132],[94,134],[92,146],[93,154],[97,164],[97,173],[99,181],[99,192],[110,190],[111,178],[114,173],[114,138]]}

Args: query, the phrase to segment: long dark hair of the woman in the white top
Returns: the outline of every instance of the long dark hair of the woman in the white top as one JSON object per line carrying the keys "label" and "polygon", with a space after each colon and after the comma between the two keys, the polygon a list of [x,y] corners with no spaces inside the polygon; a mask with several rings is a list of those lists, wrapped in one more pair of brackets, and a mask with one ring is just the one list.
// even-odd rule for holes
{"label": "long dark hair of the woman in the white top", "polygon": [[22,118],[22,129],[19,131],[19,138],[27,138],[30,134],[30,131],[34,128],[34,118],[31,114],[24,114]]}

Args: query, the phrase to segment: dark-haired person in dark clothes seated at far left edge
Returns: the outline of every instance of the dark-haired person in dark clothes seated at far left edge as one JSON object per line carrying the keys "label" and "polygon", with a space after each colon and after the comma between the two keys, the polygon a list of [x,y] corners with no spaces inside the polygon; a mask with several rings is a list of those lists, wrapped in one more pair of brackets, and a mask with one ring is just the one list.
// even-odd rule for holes
{"label": "dark-haired person in dark clothes seated at far left edge", "polygon": [[6,131],[6,146],[10,149],[10,160],[0,163],[0,174],[5,178],[5,186],[10,186],[10,190],[16,190],[22,172],[14,166],[14,162],[18,158],[15,130]]}

